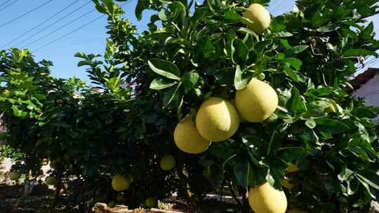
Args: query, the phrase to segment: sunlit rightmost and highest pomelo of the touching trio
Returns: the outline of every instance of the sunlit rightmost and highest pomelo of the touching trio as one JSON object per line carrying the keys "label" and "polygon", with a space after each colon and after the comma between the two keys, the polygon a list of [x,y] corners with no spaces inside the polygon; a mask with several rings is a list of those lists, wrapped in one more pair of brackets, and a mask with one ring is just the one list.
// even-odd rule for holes
{"label": "sunlit rightmost and highest pomelo of the touching trio", "polygon": [[241,118],[259,123],[277,109],[278,95],[270,85],[253,78],[246,88],[237,90],[236,107]]}

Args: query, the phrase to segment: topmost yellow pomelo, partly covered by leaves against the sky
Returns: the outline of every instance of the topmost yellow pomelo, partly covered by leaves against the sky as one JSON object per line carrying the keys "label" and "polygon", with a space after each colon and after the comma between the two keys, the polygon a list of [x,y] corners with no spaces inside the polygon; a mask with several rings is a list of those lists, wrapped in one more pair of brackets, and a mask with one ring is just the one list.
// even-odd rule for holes
{"label": "topmost yellow pomelo, partly covered by leaves against the sky", "polygon": [[244,18],[253,21],[253,24],[248,24],[248,28],[256,34],[261,34],[266,28],[270,27],[271,16],[269,11],[260,4],[251,4],[245,13]]}

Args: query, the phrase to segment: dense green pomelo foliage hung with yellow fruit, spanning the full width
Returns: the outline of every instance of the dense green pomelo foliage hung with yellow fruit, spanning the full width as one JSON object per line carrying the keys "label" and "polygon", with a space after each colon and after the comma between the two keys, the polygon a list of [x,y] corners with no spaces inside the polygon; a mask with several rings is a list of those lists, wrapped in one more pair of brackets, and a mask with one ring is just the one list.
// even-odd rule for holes
{"label": "dense green pomelo foliage hung with yellow fruit, spanning the full width", "polygon": [[[199,201],[220,186],[244,212],[367,209],[376,198],[378,109],[348,80],[377,56],[365,23],[377,1],[302,0],[272,17],[266,0],[139,0],[137,18],[156,13],[138,35],[116,1],[94,2],[108,15],[105,55],[77,57],[98,89],[49,76],[51,62],[27,50],[1,52],[3,136],[27,156],[22,172],[51,159],[58,185],[77,177],[69,202],[81,207],[152,207],[188,189]],[[164,156],[175,169],[161,169]]]}

